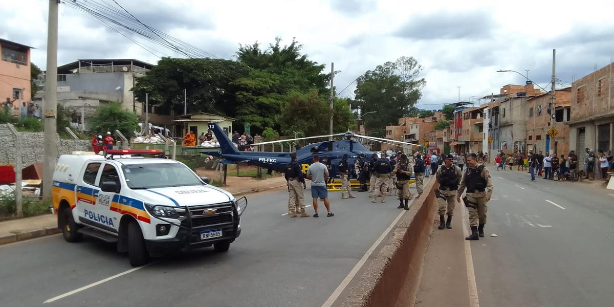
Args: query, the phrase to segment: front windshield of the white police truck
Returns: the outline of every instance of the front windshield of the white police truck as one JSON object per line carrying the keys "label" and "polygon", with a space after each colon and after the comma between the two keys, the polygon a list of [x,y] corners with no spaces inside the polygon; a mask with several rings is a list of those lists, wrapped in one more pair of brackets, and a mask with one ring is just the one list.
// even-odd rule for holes
{"label": "front windshield of the white police truck", "polygon": [[123,165],[123,175],[130,188],[182,187],[202,185],[190,169],[178,163]]}

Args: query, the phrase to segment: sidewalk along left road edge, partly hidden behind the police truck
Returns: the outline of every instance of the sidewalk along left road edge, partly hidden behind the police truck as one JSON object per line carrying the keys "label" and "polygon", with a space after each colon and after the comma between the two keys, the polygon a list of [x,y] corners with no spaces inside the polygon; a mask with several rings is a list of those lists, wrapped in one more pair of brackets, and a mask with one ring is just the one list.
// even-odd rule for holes
{"label": "sidewalk along left road edge, partly hidden behind the police truck", "polygon": [[[228,177],[228,179],[230,178],[232,177]],[[234,178],[236,179],[227,182],[230,186],[223,187],[224,190],[227,190],[234,196],[286,187],[286,179],[283,176],[266,180],[255,180],[246,177]],[[60,233],[60,230],[58,229],[58,218],[55,214],[7,220],[6,222],[0,222],[0,245],[38,238],[40,236],[54,235],[56,233]]]}

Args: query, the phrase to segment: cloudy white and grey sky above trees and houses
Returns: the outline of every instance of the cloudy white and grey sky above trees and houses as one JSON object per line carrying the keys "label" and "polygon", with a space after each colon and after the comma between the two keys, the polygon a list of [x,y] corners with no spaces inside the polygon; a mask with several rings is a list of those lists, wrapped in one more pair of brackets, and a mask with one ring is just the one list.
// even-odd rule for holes
{"label": "cloudy white and grey sky above trees and houses", "polygon": [[[77,0],[84,1],[84,0]],[[112,0],[87,0],[112,3]],[[36,47],[45,67],[46,0],[2,1],[0,37]],[[144,23],[220,58],[239,44],[268,45],[276,36],[297,41],[318,63],[335,63],[341,89],[367,69],[414,56],[427,85],[418,105],[440,107],[523,84],[513,69],[546,87],[552,49],[562,82],[610,63],[614,56],[614,1],[376,1],[376,0],[117,0]],[[60,4],[58,63],[79,58],[136,58],[147,52],[98,20]],[[180,56],[149,44],[158,56]],[[155,50],[153,50],[155,49]],[[549,87],[549,85],[548,85]],[[561,85],[557,85],[561,88]],[[352,96],[353,87],[342,96]]]}

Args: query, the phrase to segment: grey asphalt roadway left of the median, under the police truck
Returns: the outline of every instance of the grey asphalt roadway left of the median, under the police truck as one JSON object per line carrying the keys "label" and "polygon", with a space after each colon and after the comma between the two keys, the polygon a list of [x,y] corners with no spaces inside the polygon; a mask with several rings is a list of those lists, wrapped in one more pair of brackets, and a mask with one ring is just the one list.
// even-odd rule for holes
{"label": "grey asphalt roadway left of the median, under the police truck", "polygon": [[45,304],[131,270],[127,255],[114,244],[66,243],[60,235],[1,246],[0,306],[321,306],[403,211],[392,196],[373,204],[366,192],[355,195],[341,201],[330,193],[335,216],[320,203],[317,219],[282,216],[286,190],[248,196],[243,233],[227,253],[171,255]]}

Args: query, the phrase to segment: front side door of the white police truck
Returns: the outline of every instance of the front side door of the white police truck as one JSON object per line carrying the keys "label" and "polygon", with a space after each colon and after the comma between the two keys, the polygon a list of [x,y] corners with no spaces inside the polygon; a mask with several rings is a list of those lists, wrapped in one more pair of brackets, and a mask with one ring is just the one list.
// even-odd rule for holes
{"label": "front side door of the white police truck", "polygon": [[[117,184],[117,187],[122,186],[122,181],[119,177],[119,172],[115,165],[111,163],[105,162],[102,171],[100,174],[100,178],[97,182],[98,187],[100,187],[103,182],[112,181]],[[115,198],[115,201],[113,201]],[[119,231],[119,221],[122,218],[122,212],[117,207],[112,205],[113,202],[118,203],[119,193],[115,192],[103,192],[102,190],[98,190],[96,197],[96,219],[98,219],[99,227],[103,230],[109,231],[111,233],[117,233]]]}

